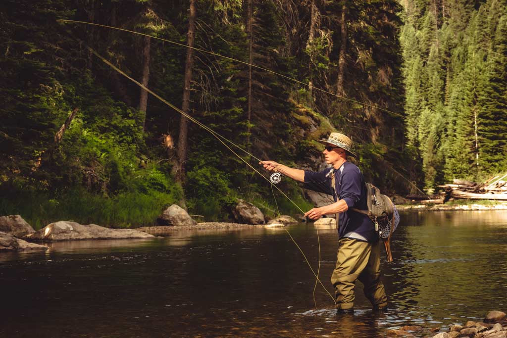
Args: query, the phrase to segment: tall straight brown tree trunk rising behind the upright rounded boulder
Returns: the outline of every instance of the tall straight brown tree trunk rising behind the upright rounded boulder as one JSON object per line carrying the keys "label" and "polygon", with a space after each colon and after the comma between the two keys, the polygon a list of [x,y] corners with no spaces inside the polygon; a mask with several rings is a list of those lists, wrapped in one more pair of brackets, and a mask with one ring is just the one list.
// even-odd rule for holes
{"label": "tall straight brown tree trunk rising behind the upright rounded boulder", "polygon": [[[187,34],[187,45],[194,47],[194,34],[195,34],[195,2],[190,0],[190,16],[189,16],[189,30]],[[193,63],[192,48],[187,48],[187,60],[185,61],[185,83],[183,90],[183,103],[182,110],[188,114],[190,107],[190,86],[192,81],[192,63]],[[187,160],[187,139],[188,139],[188,119],[182,116],[179,122],[179,137],[178,137],[178,168],[176,168],[176,180],[182,182],[185,177],[185,161]]]}

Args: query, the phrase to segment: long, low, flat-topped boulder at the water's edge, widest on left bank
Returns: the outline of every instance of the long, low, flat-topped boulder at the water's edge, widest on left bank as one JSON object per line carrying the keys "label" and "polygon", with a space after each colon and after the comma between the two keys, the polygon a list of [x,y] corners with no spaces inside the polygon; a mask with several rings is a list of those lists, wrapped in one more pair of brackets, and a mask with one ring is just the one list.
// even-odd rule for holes
{"label": "long, low, flat-topped boulder at the water's edge, widest on left bank", "polygon": [[87,239],[136,239],[152,238],[153,235],[131,229],[109,229],[88,224],[84,226],[71,221],[59,221],[48,224],[41,230],[26,236],[30,241],[68,241]]}

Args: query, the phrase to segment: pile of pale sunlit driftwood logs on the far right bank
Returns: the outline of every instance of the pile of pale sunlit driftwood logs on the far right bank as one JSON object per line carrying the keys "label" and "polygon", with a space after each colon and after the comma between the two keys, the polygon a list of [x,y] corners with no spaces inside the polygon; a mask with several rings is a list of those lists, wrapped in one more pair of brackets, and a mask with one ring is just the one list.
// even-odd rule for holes
{"label": "pile of pale sunlit driftwood logs on the far right bank", "polygon": [[452,184],[439,187],[445,189],[440,198],[426,200],[424,203],[445,203],[451,198],[507,201],[507,174],[491,177],[483,183],[455,179]]}

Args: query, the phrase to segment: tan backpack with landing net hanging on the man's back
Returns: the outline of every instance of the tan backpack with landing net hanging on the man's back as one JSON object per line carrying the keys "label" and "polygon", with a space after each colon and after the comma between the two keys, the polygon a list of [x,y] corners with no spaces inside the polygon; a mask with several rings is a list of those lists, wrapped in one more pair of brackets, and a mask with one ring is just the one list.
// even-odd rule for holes
{"label": "tan backpack with landing net hanging on the man's back", "polygon": [[[335,175],[331,175],[331,186],[335,189]],[[400,214],[391,199],[380,193],[378,187],[372,183],[366,183],[366,196],[368,210],[352,208],[353,211],[367,215],[375,224],[375,231],[384,243],[387,261],[392,262],[391,236],[398,223]],[[338,217],[337,217],[338,218]]]}

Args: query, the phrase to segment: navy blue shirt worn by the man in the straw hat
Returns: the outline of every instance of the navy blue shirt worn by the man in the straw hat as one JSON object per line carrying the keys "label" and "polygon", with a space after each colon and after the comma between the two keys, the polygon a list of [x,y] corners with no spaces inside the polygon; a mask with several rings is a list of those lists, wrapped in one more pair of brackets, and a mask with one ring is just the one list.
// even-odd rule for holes
{"label": "navy blue shirt worn by the man in the straw hat", "polygon": [[368,210],[366,184],[363,174],[356,165],[345,162],[340,169],[335,170],[335,192],[331,187],[331,170],[326,168],[319,172],[305,171],[305,188],[320,193],[333,195],[335,202],[344,200],[348,210],[339,214],[338,236],[357,240],[378,241],[375,226],[365,214],[356,212],[352,208]]}

